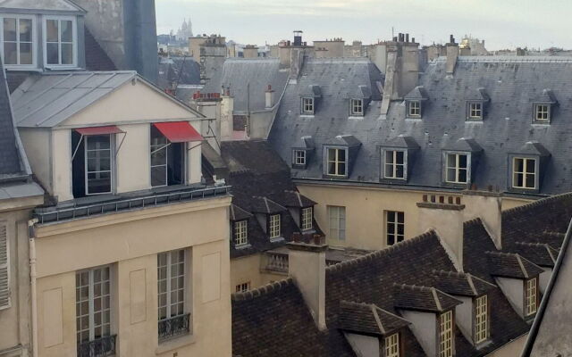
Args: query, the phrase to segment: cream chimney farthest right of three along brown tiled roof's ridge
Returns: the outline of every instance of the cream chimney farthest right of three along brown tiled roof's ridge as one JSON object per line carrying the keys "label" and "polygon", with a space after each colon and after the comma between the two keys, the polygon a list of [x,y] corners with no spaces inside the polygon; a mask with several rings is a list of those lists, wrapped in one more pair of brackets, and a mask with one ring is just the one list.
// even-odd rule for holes
{"label": "cream chimney farthest right of three along brown tiled roof's ridge", "polygon": [[465,220],[480,218],[484,228],[492,238],[497,249],[502,249],[502,194],[494,192],[492,187],[488,191],[463,191],[463,203],[466,204]]}

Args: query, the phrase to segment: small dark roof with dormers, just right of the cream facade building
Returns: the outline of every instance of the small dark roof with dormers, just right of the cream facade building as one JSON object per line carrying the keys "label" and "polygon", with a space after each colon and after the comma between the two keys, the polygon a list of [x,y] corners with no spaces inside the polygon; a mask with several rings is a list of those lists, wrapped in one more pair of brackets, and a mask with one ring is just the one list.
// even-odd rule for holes
{"label": "small dark roof with dormers, just right of the cream facade building", "polygon": [[[229,174],[232,203],[248,218],[248,246],[236,248],[231,239],[231,258],[265,252],[285,245],[293,233],[302,233],[285,206],[298,203],[312,205],[313,201],[299,195],[290,179],[290,168],[264,140],[223,141],[221,156]],[[235,214],[238,214],[235,210]],[[271,242],[254,213],[281,213],[281,233],[284,240]],[[322,234],[314,220],[314,232]]]}

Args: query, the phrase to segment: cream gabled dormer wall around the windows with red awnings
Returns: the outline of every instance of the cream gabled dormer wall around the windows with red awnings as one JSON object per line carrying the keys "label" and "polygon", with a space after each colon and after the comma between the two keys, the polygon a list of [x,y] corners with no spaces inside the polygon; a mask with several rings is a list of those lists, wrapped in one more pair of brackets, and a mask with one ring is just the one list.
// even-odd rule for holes
{"label": "cream gabled dormer wall around the windows with red awnings", "polygon": [[[73,199],[71,130],[117,125],[125,132],[114,136],[114,192],[125,193],[151,187],[150,128],[159,121],[189,121],[201,130],[197,113],[138,80],[134,85],[124,84],[58,127],[21,129],[21,137],[38,179],[58,201],[67,201]],[[197,183],[201,180],[201,148],[198,142],[186,145],[187,183]]]}

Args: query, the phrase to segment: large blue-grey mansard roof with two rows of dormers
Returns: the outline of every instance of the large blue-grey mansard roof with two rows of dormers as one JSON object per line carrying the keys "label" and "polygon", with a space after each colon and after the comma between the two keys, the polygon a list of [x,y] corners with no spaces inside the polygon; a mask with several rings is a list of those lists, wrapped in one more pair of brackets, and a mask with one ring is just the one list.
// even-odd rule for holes
{"label": "large blue-grey mansard roof with two rows of dormers", "polygon": [[[473,167],[477,187],[508,189],[509,154],[520,154],[527,142],[539,142],[551,154],[543,170],[541,195],[572,191],[572,58],[459,57],[454,74],[445,72],[444,59],[431,62],[420,73],[429,99],[424,102],[421,120],[406,119],[403,101],[392,102],[387,115],[381,115],[381,100],[374,82],[381,74],[366,60],[307,61],[298,84],[290,84],[273,122],[269,141],[290,162],[290,150],[303,136],[312,136],[320,147],[332,137],[352,135],[362,143],[348,181],[378,183],[380,150],[391,139],[405,135],[420,145],[411,167],[411,187],[442,187],[442,150],[459,138],[472,138],[483,148]],[[316,104],[313,118],[300,117],[299,91],[308,84],[319,85],[323,98]],[[349,88],[369,85],[372,102],[364,118],[348,118],[346,93]],[[532,123],[533,103],[545,88],[558,100],[550,125]],[[490,97],[482,122],[466,120],[467,97],[484,88]],[[321,155],[320,151],[315,152]],[[311,160],[306,170],[293,169],[294,179],[322,179],[323,161]],[[402,184],[400,184],[402,185]]]}

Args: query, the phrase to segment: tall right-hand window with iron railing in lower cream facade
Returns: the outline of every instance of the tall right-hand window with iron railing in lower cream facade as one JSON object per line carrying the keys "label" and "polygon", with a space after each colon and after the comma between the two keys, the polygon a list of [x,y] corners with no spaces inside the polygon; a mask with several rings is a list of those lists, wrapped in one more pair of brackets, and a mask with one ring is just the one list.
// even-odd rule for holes
{"label": "tall right-hand window with iron railing in lower cream facade", "polygon": [[184,249],[157,254],[159,338],[189,332],[189,314],[185,314],[186,255]]}

